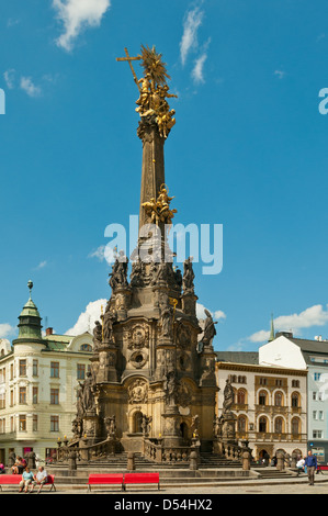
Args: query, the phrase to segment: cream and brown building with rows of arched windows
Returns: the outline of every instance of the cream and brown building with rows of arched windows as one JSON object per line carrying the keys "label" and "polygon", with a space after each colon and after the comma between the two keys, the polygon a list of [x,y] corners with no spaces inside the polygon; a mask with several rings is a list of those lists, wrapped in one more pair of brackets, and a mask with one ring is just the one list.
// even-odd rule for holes
{"label": "cream and brown building with rows of arched windows", "polygon": [[220,414],[224,388],[229,380],[235,400],[238,439],[247,439],[259,460],[265,452],[304,455],[306,434],[306,370],[267,367],[255,352],[217,352],[216,374],[219,392],[216,411]]}

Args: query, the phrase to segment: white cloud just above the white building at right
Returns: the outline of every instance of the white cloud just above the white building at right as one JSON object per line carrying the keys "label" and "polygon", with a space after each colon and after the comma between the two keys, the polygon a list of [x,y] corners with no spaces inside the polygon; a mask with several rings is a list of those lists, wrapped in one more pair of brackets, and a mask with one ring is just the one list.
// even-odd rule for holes
{"label": "white cloud just above the white building at right", "polygon": [[[326,309],[328,309],[328,304]],[[275,332],[291,330],[294,335],[299,336],[304,328],[325,326],[328,324],[328,310],[326,309],[321,304],[316,304],[299,314],[281,315],[274,319],[274,329]],[[261,329],[248,337],[248,340],[263,343],[268,340],[269,336],[269,330]]]}

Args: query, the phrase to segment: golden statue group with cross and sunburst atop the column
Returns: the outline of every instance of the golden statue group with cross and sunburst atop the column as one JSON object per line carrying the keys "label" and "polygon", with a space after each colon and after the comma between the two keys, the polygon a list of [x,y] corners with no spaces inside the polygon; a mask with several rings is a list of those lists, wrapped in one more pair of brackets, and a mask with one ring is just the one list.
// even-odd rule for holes
{"label": "golden statue group with cross and sunburst atop the column", "polygon": [[[139,90],[139,98],[136,101],[136,112],[142,117],[155,115],[159,134],[162,138],[167,138],[169,132],[176,124],[174,110],[170,110],[167,99],[178,98],[176,94],[169,93],[166,64],[161,60],[161,54],[157,54],[155,47],[151,49],[142,45],[142,54],[131,57],[125,48],[126,57],[117,57],[117,61],[127,61],[134,76],[134,80]],[[144,77],[137,78],[132,66],[133,60],[140,60],[144,67]]]}

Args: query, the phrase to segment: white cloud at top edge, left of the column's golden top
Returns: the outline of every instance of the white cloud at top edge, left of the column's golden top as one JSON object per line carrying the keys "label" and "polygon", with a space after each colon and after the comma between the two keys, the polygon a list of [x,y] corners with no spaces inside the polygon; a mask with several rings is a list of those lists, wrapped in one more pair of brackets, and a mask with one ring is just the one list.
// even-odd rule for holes
{"label": "white cloud at top edge, left of the column's golden top", "polygon": [[81,31],[88,26],[99,26],[110,7],[111,0],[53,0],[53,8],[65,30],[57,38],[57,45],[71,51]]}

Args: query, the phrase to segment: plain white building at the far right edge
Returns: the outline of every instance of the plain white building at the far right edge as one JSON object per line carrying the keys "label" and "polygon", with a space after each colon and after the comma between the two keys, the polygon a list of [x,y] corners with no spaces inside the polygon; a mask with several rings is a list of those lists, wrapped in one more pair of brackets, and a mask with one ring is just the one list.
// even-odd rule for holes
{"label": "plain white building at the far right edge", "polygon": [[259,349],[260,363],[307,370],[308,449],[320,462],[328,461],[328,340],[295,338],[280,332]]}

